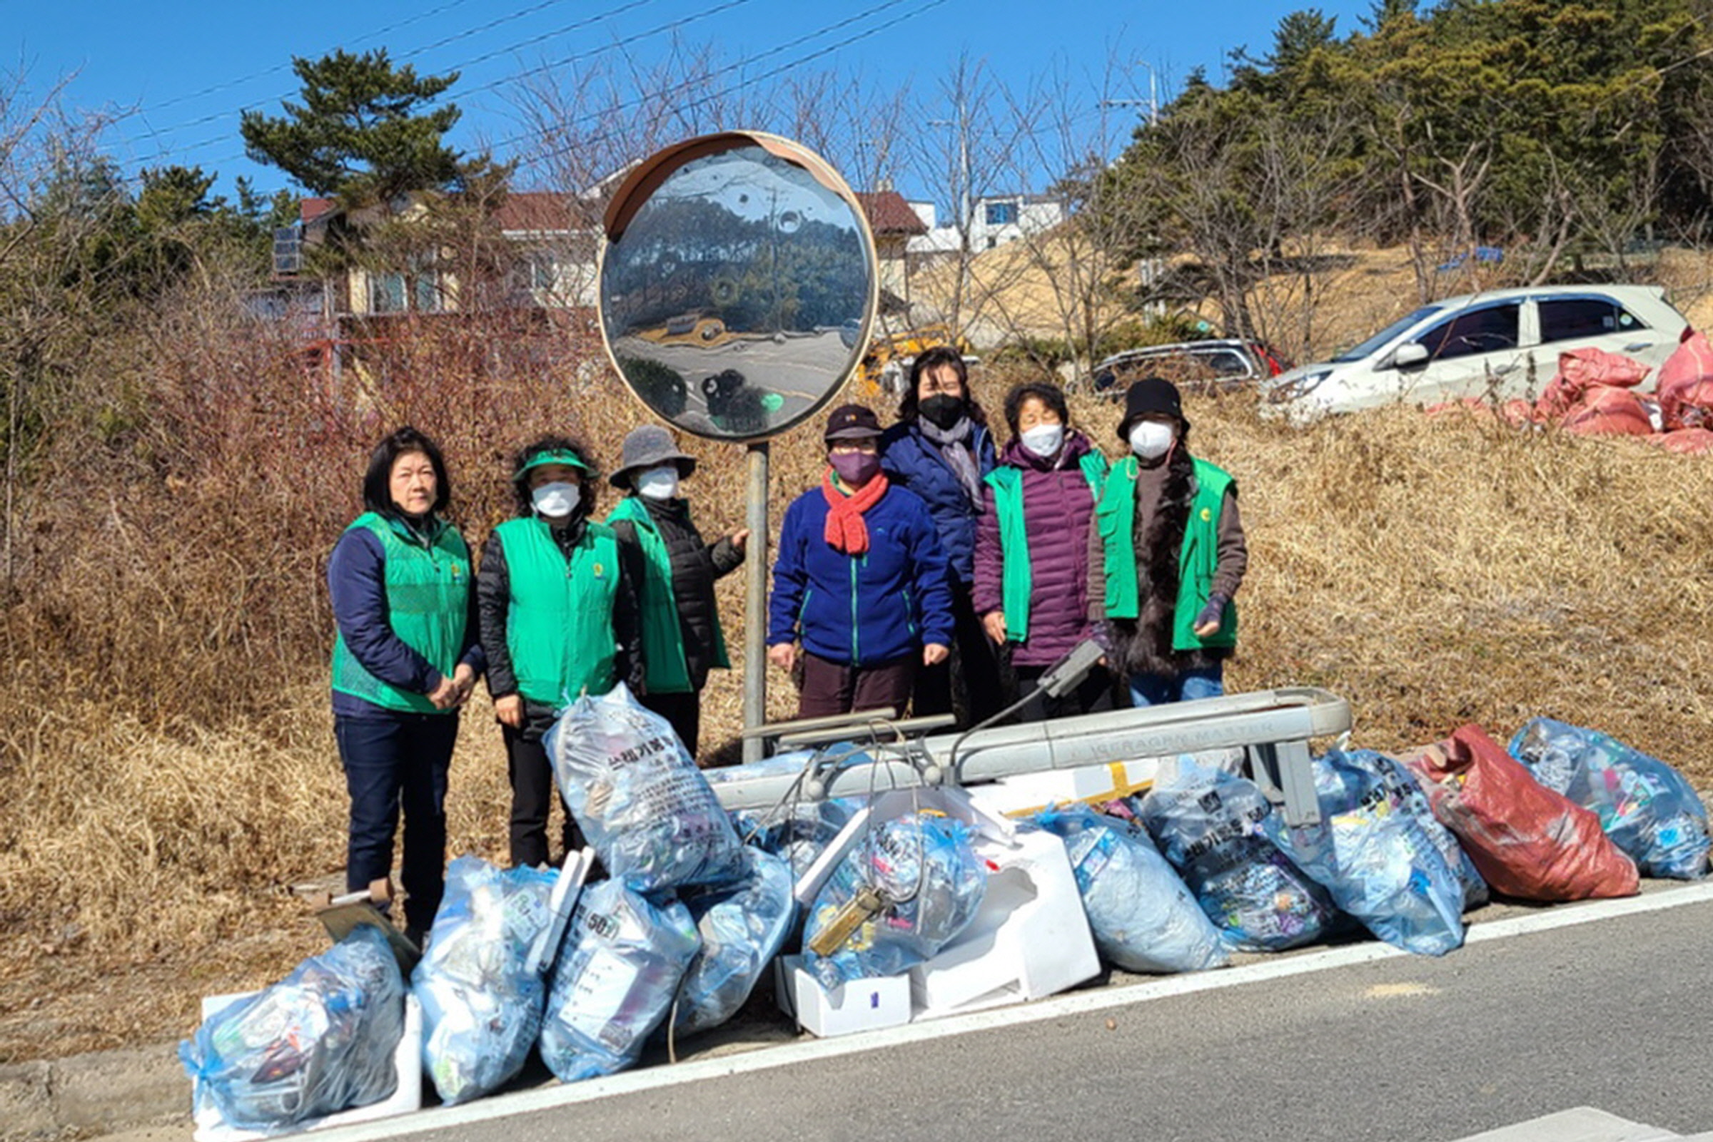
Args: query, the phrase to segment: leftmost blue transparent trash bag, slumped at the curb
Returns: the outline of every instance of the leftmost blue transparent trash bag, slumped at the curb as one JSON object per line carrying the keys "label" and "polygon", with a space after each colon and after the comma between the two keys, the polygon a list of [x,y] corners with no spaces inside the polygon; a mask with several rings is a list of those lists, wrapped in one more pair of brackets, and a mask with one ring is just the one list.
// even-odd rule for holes
{"label": "leftmost blue transparent trash bag, slumped at the curb", "polygon": [[283,981],[209,1015],[178,1058],[197,1108],[278,1132],[397,1089],[404,978],[380,928],[360,925]]}

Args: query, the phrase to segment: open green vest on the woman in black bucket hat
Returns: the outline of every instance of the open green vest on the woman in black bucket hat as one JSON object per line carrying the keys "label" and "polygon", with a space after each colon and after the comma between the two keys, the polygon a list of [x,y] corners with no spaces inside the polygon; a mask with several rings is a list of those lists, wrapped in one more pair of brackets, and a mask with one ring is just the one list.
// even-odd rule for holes
{"label": "open green vest on the woman in black bucket hat", "polygon": [[[1107,490],[1095,509],[1100,526],[1107,568],[1107,618],[1136,618],[1136,471],[1134,455],[1112,467]],[[1220,565],[1220,509],[1232,474],[1208,461],[1196,461],[1196,498],[1189,505],[1184,526],[1184,548],[1179,551],[1179,596],[1172,610],[1172,649],[1196,651],[1199,647],[1237,645],[1237,604],[1227,603],[1220,628],[1201,639],[1196,635],[1196,615],[1213,594],[1213,572]]]}

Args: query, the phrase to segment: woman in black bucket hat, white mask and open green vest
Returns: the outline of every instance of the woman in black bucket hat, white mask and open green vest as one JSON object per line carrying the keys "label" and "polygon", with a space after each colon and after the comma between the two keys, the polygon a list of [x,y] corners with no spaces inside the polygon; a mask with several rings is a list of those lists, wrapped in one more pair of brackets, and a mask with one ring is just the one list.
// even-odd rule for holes
{"label": "woman in black bucket hat, white mask and open green vest", "polygon": [[1225,693],[1249,548],[1237,481],[1189,452],[1177,385],[1144,377],[1124,394],[1119,438],[1089,532],[1089,616],[1136,705]]}

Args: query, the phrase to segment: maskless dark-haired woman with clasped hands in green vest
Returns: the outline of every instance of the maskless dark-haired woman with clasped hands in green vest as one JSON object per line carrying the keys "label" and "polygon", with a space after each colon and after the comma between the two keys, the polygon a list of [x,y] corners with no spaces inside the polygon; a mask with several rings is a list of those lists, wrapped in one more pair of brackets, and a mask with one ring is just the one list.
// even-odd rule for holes
{"label": "maskless dark-haired woman with clasped hands in green vest", "polygon": [[445,885],[445,781],[457,711],[483,669],[469,548],[440,517],[440,449],[401,428],[368,457],[363,507],[327,560],[332,728],[351,794],[344,883],[392,877],[404,813],[406,935],[421,942]]}

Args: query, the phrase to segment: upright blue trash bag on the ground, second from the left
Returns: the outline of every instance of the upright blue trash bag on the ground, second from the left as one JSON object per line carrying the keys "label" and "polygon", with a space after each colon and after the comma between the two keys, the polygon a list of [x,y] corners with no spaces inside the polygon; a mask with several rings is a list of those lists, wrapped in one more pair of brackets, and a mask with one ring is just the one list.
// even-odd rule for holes
{"label": "upright blue trash bag on the ground, second from the left", "polygon": [[447,1104],[492,1094],[529,1058],[546,981],[529,949],[552,921],[557,870],[495,868],[459,856],[428,950],[411,974],[423,1008],[423,1070]]}

